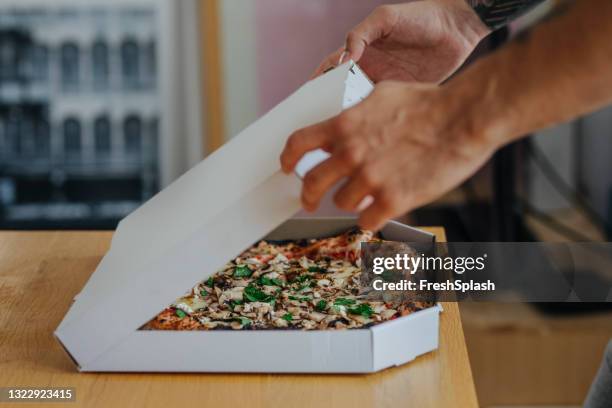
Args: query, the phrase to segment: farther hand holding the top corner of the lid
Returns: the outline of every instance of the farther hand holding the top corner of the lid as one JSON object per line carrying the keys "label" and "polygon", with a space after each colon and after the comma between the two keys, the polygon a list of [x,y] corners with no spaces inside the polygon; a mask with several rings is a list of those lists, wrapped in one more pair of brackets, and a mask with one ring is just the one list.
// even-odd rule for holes
{"label": "farther hand holding the top corner of the lid", "polygon": [[[314,76],[352,59],[374,82],[440,83],[490,32],[465,0],[423,0],[378,7]],[[346,51],[346,52],[345,52]]]}

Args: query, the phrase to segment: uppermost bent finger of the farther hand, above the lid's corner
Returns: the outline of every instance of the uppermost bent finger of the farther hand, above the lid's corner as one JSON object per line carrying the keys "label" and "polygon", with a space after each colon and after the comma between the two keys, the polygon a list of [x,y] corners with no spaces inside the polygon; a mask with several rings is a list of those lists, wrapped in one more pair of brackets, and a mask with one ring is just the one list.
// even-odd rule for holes
{"label": "uppermost bent finger of the farther hand, above the lid's corner", "polygon": [[393,10],[393,6],[378,7],[348,33],[345,61],[358,62],[368,45],[390,33],[396,19]]}

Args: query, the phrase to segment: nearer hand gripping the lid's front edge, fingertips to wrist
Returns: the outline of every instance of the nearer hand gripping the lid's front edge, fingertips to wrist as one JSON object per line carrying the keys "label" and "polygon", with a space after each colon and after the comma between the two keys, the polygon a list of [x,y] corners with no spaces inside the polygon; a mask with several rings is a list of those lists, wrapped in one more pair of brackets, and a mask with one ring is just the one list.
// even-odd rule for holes
{"label": "nearer hand gripping the lid's front edge, fingertips to wrist", "polygon": [[304,178],[304,208],[315,210],[323,195],[346,178],[334,197],[336,205],[355,211],[371,196],[374,201],[359,223],[377,229],[474,173],[493,146],[466,122],[462,108],[469,97],[445,92],[433,85],[383,82],[355,107],[292,134],[281,155],[287,173],[310,150],[331,153]]}

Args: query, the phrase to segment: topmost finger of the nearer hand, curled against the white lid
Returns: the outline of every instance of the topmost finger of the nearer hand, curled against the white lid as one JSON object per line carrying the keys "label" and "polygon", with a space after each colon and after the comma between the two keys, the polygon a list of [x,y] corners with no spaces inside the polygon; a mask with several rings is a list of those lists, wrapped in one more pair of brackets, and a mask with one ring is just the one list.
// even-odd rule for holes
{"label": "topmost finger of the nearer hand, curled against the white lid", "polygon": [[304,154],[315,149],[329,150],[333,138],[331,120],[294,132],[287,139],[281,153],[281,167],[285,173],[291,173]]}

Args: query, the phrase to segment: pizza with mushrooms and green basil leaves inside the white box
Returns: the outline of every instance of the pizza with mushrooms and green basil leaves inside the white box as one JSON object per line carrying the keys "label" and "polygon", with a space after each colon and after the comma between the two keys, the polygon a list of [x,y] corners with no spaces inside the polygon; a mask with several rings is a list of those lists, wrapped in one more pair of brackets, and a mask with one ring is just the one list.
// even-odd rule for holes
{"label": "pizza with mushrooms and green basil leaves inside the white box", "polygon": [[358,228],[309,240],[259,241],[147,322],[143,330],[354,329],[431,306],[361,294]]}

